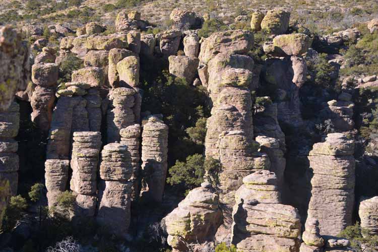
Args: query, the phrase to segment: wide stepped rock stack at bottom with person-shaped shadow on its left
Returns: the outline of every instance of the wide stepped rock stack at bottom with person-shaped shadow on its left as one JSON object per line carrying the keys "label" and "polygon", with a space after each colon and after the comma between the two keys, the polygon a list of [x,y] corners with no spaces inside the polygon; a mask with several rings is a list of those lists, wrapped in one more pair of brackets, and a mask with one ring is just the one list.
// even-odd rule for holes
{"label": "wide stepped rock stack at bottom with person-shaped shadow on its left", "polygon": [[232,243],[240,251],[299,251],[299,214],[281,204],[274,172],[261,170],[244,177],[235,200]]}

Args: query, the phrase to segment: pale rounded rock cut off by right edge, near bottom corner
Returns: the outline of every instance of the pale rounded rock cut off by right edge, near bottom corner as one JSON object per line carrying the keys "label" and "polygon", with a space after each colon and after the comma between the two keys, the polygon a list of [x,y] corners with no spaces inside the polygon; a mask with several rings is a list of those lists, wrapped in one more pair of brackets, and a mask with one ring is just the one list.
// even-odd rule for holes
{"label": "pale rounded rock cut off by right edge, near bottom corner", "polygon": [[378,234],[378,196],[362,198],[358,210],[361,219],[361,227],[368,230],[369,234]]}

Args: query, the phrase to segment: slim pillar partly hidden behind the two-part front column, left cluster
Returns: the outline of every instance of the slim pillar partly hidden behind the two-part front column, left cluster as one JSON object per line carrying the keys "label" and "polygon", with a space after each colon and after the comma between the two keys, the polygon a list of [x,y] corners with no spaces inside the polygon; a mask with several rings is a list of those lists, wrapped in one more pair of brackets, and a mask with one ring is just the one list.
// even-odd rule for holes
{"label": "slim pillar partly hidden behind the two-part front column, left cluster", "polygon": [[129,127],[120,130],[119,135],[121,136],[120,143],[128,147],[128,153],[131,157],[131,165],[133,169],[133,175],[130,181],[133,182],[132,187],[132,200],[135,201],[139,197],[140,192],[140,169],[141,169],[141,155],[139,153],[139,148],[141,144],[141,125],[134,124]]}

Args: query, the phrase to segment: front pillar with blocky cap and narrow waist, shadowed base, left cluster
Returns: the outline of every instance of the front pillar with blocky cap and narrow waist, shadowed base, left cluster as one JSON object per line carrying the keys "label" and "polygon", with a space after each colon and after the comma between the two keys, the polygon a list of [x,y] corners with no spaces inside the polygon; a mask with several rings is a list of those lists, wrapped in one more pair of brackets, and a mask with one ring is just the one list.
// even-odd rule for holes
{"label": "front pillar with blocky cap and narrow waist, shadowed base, left cluster", "polygon": [[124,238],[128,233],[131,215],[133,175],[128,147],[111,143],[101,152],[97,221],[111,228],[111,232]]}

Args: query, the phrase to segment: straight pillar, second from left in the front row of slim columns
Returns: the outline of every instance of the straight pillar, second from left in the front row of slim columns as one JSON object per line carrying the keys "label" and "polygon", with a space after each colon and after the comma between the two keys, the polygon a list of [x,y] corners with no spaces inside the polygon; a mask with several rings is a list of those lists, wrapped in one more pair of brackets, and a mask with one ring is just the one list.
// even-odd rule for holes
{"label": "straight pillar, second from left in the front row of slim columns", "polygon": [[97,170],[101,148],[100,132],[74,132],[71,157],[71,190],[76,195],[75,216],[94,216]]}

